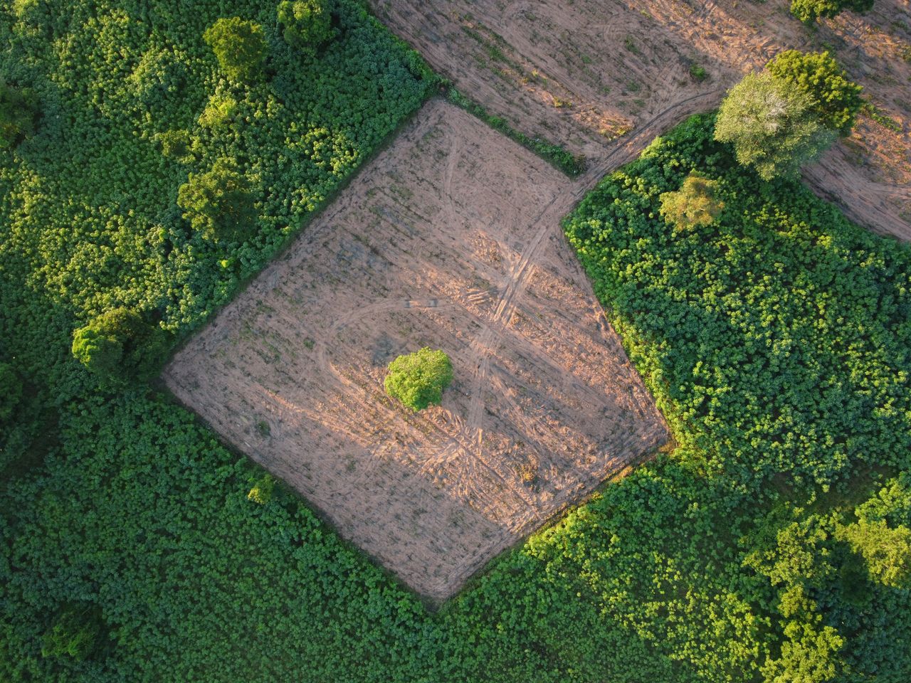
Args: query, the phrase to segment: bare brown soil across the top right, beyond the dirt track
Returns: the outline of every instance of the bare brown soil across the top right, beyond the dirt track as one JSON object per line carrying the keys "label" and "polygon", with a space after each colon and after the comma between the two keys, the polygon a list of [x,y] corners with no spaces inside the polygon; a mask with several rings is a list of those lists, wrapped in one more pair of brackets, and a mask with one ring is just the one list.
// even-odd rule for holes
{"label": "bare brown soil across the top right, beyond the dirt track", "polygon": [[[829,49],[897,129],[863,117],[806,171],[849,217],[911,240],[911,10],[877,0],[810,31],[789,0],[370,0],[440,73],[518,130],[585,154],[591,178],[634,158],[783,49]],[[697,82],[691,66],[709,77]],[[638,144],[630,144],[634,131]]]}

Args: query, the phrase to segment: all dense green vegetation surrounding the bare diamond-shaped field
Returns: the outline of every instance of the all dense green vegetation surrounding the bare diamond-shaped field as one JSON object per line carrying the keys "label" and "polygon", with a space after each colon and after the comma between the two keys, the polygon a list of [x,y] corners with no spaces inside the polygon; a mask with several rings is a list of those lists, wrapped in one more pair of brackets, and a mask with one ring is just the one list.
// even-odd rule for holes
{"label": "all dense green vegetation surrounding the bare diamond-shaped field", "polygon": [[674,447],[439,609],[147,381],[439,88],[289,5],[0,8],[0,679],[911,680],[911,250],[714,114],[564,222]]}

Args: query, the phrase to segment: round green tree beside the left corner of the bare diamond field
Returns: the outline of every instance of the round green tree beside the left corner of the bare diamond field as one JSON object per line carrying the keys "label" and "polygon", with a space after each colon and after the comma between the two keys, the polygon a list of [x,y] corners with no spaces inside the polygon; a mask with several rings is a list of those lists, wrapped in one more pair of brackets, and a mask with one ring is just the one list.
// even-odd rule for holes
{"label": "round green tree beside the left corner of the bare diamond field", "polygon": [[165,348],[163,335],[137,311],[124,307],[106,311],[73,332],[73,355],[108,386],[144,379]]}

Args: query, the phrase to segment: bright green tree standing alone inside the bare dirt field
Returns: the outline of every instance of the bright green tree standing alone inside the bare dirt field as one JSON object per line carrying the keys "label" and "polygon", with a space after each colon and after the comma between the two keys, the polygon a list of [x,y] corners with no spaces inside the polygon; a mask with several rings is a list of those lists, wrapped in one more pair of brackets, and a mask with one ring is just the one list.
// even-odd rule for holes
{"label": "bright green tree standing alone inside the bare dirt field", "polygon": [[453,381],[452,362],[442,351],[428,347],[399,356],[389,363],[386,393],[413,411],[443,400],[443,390]]}

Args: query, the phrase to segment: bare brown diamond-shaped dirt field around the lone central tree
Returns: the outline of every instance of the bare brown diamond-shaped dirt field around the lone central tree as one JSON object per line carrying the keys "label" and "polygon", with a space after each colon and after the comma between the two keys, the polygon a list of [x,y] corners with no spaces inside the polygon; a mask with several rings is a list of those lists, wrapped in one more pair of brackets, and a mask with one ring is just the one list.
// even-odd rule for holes
{"label": "bare brown diamond-shaped dirt field around the lone central tree", "polygon": [[[435,100],[164,372],[179,400],[419,593],[665,443],[559,230],[584,184]],[[442,406],[384,369],[449,353]]]}

